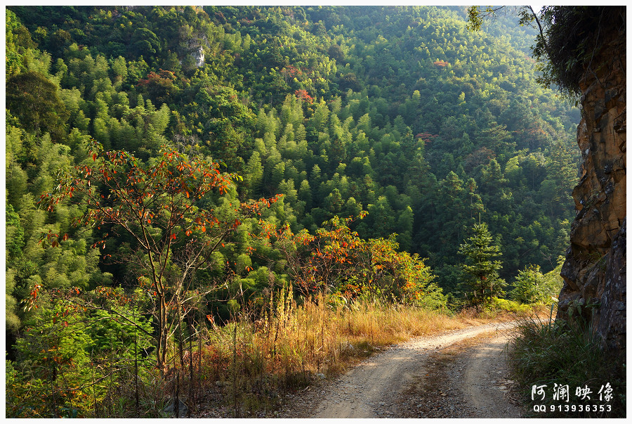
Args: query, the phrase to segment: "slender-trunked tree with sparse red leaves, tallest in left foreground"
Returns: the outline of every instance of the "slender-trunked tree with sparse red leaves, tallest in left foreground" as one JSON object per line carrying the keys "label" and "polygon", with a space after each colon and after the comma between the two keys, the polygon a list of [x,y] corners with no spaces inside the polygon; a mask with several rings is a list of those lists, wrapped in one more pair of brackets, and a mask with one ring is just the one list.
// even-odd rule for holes
{"label": "slender-trunked tree with sparse red leaves, tallest in left foreground", "polygon": [[[123,259],[133,264],[154,305],[157,366],[166,371],[167,342],[183,319],[185,304],[203,294],[193,285],[197,271],[209,266],[213,252],[244,217],[261,214],[276,198],[236,203],[220,217],[205,207],[210,195],[227,193],[241,177],[220,172],[218,162],[170,148],[161,154],[142,163],[124,150],[104,151],[93,141],[92,162],[62,176],[52,193],[41,195],[41,203],[53,210],[67,198],[85,210],[74,226],[122,230],[136,242]],[[47,238],[55,245],[67,235],[48,233]],[[108,238],[105,234],[95,246],[105,248]]]}

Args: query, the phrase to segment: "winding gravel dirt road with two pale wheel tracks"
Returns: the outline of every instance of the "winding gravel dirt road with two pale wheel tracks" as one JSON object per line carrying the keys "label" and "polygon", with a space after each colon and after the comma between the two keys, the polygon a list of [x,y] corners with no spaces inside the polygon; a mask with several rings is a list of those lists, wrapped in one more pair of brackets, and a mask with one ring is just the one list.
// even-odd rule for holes
{"label": "winding gravel dirt road with two pale wheel tracks", "polygon": [[299,394],[284,418],[518,418],[503,349],[513,324],[417,338]]}

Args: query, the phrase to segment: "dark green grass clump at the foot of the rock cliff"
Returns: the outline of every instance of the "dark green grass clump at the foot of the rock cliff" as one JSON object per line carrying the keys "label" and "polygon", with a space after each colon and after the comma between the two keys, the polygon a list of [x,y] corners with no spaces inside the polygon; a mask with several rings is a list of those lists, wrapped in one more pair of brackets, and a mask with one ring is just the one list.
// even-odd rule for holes
{"label": "dark green grass clump at the foot of the rock cliff", "polygon": [[581,316],[572,322],[552,317],[553,307],[545,320],[523,321],[509,346],[527,416],[624,418],[625,357],[604,352],[591,323]]}

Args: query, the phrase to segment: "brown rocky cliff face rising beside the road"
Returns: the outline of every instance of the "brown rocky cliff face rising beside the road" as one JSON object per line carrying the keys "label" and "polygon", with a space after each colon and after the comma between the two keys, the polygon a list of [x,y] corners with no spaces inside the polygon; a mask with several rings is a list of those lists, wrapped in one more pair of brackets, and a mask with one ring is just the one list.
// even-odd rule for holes
{"label": "brown rocky cliff face rising beside the road", "polygon": [[558,318],[572,318],[580,309],[586,319],[594,314],[593,331],[607,349],[621,352],[626,348],[625,32],[612,34],[590,66],[581,81],[584,117],[577,143],[584,163],[573,191],[577,217],[562,266]]}

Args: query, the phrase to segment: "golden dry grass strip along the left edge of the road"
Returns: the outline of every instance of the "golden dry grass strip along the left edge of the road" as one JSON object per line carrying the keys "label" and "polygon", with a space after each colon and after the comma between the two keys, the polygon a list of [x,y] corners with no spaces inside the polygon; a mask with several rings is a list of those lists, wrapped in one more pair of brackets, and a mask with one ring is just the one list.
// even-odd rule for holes
{"label": "golden dry grass strip along the left edge of the road", "polygon": [[510,313],[481,316],[465,309],[453,314],[369,302],[333,307],[325,297],[297,305],[287,290],[272,295],[257,321],[248,312],[187,338],[183,351],[173,346],[172,368],[162,383],[142,383],[162,397],[140,399],[141,415],[165,416],[164,406],[177,392],[194,417],[269,416],[283,394],[343,373],[388,345],[516,318]]}

